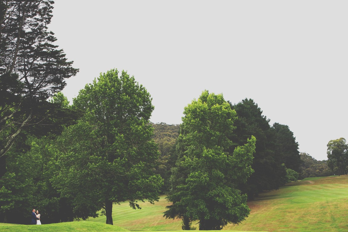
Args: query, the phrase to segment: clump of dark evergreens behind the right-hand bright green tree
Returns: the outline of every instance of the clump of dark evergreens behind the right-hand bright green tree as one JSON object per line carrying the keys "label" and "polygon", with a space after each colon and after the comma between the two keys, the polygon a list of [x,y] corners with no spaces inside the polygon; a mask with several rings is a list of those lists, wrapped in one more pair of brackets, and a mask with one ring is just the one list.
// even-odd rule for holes
{"label": "clump of dark evergreens behind the right-hand bright green tree", "polygon": [[[246,184],[240,188],[253,199],[263,190],[278,189],[286,183],[286,167],[298,169],[300,158],[298,144],[293,133],[285,125],[269,125],[269,119],[262,115],[262,110],[252,99],[244,99],[231,108],[237,112],[236,129],[231,140],[235,142],[232,149],[243,145],[246,138],[256,137],[256,150],[252,168],[254,173]],[[285,165],[283,165],[285,163]]]}

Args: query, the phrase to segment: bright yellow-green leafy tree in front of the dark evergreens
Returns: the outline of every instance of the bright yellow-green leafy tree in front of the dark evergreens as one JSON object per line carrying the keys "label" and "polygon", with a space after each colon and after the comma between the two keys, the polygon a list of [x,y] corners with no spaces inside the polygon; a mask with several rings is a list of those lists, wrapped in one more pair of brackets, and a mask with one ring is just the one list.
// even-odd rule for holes
{"label": "bright yellow-green leafy tree in front of the dark evergreens", "polygon": [[252,173],[255,137],[232,153],[229,136],[236,112],[221,94],[203,91],[185,107],[177,140],[178,159],[164,216],[183,219],[183,229],[198,220],[200,230],[221,230],[248,216],[246,195],[238,189]]}

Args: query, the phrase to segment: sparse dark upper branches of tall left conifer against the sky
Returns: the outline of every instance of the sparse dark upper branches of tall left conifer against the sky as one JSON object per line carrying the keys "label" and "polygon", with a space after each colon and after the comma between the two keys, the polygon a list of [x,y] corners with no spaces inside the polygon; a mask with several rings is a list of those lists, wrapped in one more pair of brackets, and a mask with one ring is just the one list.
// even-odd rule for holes
{"label": "sparse dark upper branches of tall left conifer against the sky", "polygon": [[62,90],[77,73],[54,45],[53,32],[47,31],[53,1],[6,1],[1,18],[1,73],[16,73],[22,82],[24,98],[47,99]]}

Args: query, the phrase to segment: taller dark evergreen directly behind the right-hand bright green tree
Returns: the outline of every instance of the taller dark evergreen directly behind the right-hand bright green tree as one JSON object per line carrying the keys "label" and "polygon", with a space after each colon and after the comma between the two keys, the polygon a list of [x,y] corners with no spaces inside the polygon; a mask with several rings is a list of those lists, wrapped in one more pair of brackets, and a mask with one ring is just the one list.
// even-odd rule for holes
{"label": "taller dark evergreen directly behind the right-hand bright green tree", "polygon": [[262,115],[262,110],[252,99],[232,105],[237,112],[236,129],[231,136],[234,146],[243,145],[243,141],[254,135],[256,149],[252,168],[254,173],[241,188],[253,199],[263,190],[278,189],[286,176],[285,167],[275,158],[274,133],[269,125],[269,119]]}

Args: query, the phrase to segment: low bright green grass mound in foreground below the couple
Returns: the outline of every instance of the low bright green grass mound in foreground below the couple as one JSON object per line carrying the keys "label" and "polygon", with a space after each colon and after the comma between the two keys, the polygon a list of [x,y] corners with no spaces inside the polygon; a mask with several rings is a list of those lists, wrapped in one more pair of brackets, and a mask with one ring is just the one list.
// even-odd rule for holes
{"label": "low bright green grass mound in foreground below the couple", "polygon": [[26,231],[34,231],[34,232],[93,232],[93,231],[128,231],[119,226],[106,225],[105,223],[99,222],[63,222],[63,223],[55,223],[55,224],[47,224],[47,225],[18,225],[18,224],[7,224],[0,223],[0,231],[1,232],[26,232]]}

